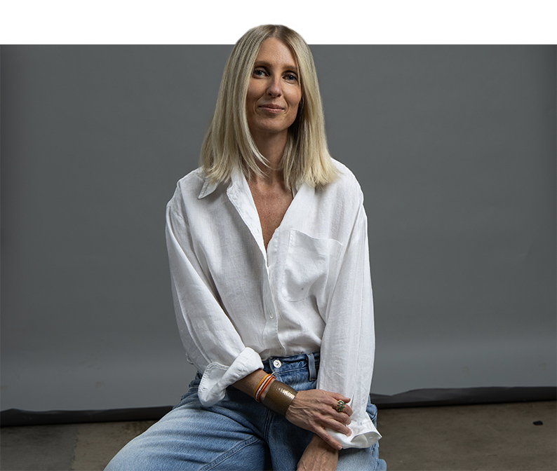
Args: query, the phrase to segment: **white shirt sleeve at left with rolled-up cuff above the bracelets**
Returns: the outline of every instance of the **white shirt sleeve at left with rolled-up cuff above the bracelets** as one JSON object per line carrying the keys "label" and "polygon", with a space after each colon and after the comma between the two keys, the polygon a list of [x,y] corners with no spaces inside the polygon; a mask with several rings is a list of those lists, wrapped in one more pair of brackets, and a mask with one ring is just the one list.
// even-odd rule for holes
{"label": "white shirt sleeve at left with rolled-up cuff above the bracelets", "polygon": [[[205,406],[224,397],[224,390],[263,364],[246,347],[222,310],[217,292],[196,254],[189,233],[180,187],[166,208],[166,245],[178,328],[189,360],[203,372],[199,400]],[[204,269],[205,268],[205,269]]]}

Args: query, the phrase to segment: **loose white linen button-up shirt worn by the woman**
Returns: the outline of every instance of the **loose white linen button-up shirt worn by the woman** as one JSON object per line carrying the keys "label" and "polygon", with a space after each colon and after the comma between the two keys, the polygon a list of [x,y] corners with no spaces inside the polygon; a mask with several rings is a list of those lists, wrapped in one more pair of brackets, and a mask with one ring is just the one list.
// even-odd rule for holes
{"label": "loose white linen button-up shirt worn by the woman", "polygon": [[344,448],[380,435],[368,402],[375,332],[367,218],[356,178],[323,189],[307,184],[267,250],[246,178],[210,184],[201,169],[177,184],[166,211],[166,240],[180,336],[203,373],[199,400],[210,406],[262,360],[320,351],[317,388],[351,398]]}

